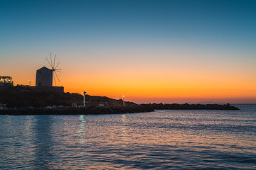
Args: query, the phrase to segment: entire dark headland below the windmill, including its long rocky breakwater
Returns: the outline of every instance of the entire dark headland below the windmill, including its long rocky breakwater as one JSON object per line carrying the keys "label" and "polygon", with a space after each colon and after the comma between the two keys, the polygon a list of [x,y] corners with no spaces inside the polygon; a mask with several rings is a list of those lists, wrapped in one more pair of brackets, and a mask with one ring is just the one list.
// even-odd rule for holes
{"label": "entire dark headland below the windmill, including its long rocky breakwater", "polygon": [[105,96],[36,91],[29,86],[1,86],[1,115],[97,115],[117,113],[143,113],[154,110],[239,110],[230,104],[137,104]]}

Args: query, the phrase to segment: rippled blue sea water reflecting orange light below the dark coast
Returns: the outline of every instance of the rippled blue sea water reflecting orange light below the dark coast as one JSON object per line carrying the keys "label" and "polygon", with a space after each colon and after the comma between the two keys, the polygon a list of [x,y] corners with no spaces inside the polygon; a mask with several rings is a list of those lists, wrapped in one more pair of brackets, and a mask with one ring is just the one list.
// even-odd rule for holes
{"label": "rippled blue sea water reflecting orange light below the dark coast", "polygon": [[0,115],[0,169],[256,169],[256,105],[238,107]]}

